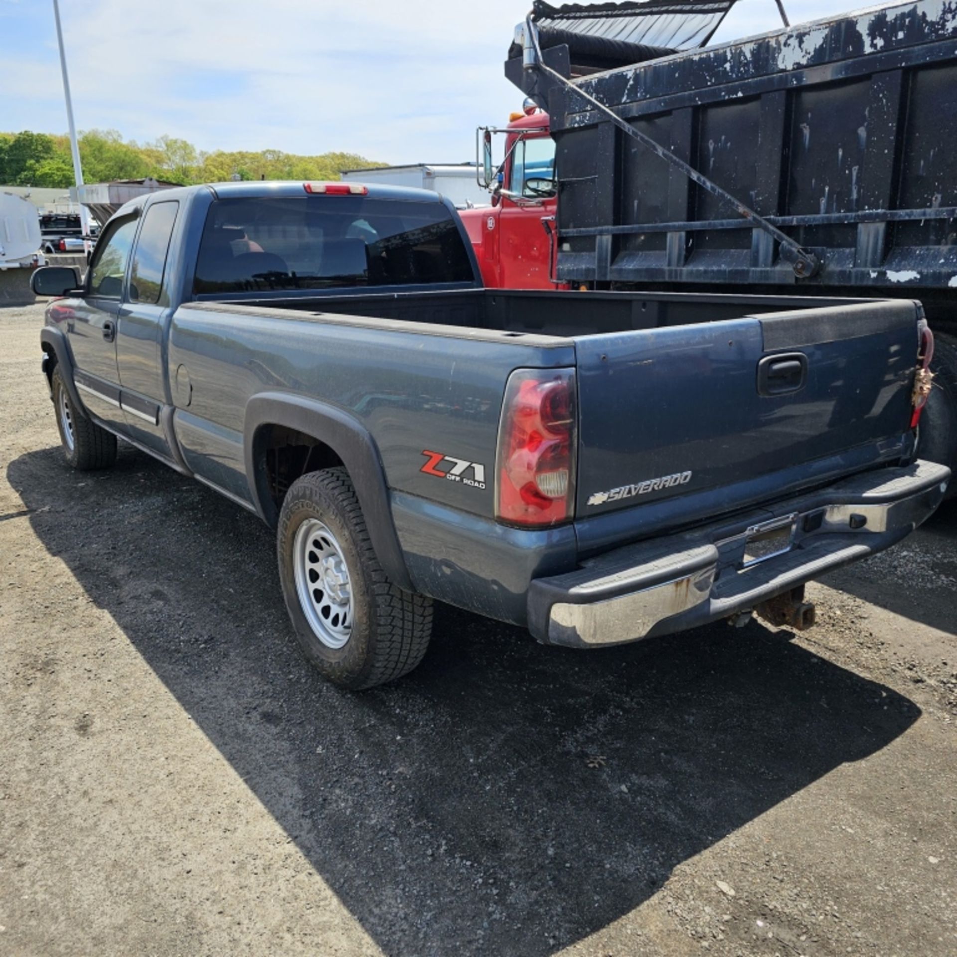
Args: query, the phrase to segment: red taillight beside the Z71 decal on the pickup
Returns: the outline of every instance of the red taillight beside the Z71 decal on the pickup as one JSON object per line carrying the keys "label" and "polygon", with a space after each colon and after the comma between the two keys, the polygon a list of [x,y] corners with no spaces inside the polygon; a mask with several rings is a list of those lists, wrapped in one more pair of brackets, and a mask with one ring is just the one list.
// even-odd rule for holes
{"label": "red taillight beside the Z71 decal on the pickup", "polygon": [[553,525],[575,514],[575,373],[519,369],[505,387],[496,518]]}

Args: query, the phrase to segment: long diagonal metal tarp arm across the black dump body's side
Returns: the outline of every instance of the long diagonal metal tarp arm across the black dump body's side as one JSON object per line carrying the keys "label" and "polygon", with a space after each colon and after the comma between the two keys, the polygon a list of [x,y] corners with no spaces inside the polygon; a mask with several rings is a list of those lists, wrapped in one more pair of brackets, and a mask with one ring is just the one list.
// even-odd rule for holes
{"label": "long diagonal metal tarp arm across the black dump body's side", "polygon": [[615,113],[610,107],[606,106],[599,100],[595,100],[594,97],[590,96],[590,94],[586,93],[584,90],[580,90],[577,86],[575,86],[574,83],[563,77],[556,70],[552,70],[552,68],[545,63],[545,59],[542,56],[542,48],[539,45],[538,28],[532,22],[531,12],[525,17],[525,29],[522,44],[522,65],[524,70],[538,70],[545,74],[545,76],[557,80],[566,89],[570,90],[573,94],[580,97],[582,100],[585,100],[587,103],[590,103],[590,105],[596,110],[607,116],[609,120],[615,124],[615,126],[617,126],[622,132],[627,133],[630,137],[632,137],[633,140],[637,140],[638,143],[645,146],[647,149],[650,149],[656,156],[660,157],[666,163],[670,163],[673,167],[687,176],[692,182],[697,183],[701,189],[706,189],[713,196],[717,196],[727,206],[730,206],[732,210],[737,212],[738,215],[753,223],[755,228],[762,230],[763,232],[772,236],[774,240],[781,245],[781,258],[786,262],[790,262],[790,268],[793,270],[794,275],[797,278],[812,278],[812,276],[815,276],[820,270],[820,260],[817,258],[817,256],[814,256],[810,250],[798,245],[798,243],[794,242],[794,240],[791,239],[788,234],[783,233],[772,223],[769,223],[767,219],[759,215],[750,207],[746,206],[741,202],[741,200],[731,195],[731,193],[729,193],[726,189],[722,189],[722,187],[718,186],[717,183],[713,183],[703,173],[700,173],[697,169],[695,169],[695,167],[685,163],[684,160],[676,156],[666,146],[662,146],[657,142],[657,140],[653,140],[646,133],[642,133],[640,130],[635,129],[631,123],[622,120],[622,118],[619,117],[618,114]]}

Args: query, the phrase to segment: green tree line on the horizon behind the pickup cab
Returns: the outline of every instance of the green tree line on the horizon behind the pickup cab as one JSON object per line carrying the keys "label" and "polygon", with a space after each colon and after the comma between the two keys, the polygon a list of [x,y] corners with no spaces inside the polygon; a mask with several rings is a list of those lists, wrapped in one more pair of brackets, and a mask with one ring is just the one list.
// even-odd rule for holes
{"label": "green tree line on the horizon behind the pickup cab", "polygon": [[[114,129],[91,129],[79,136],[83,180],[104,183],[152,176],[168,183],[220,183],[244,180],[337,180],[341,169],[381,166],[355,153],[297,156],[278,149],[210,153],[186,140],[161,136],[140,145]],[[49,133],[0,133],[0,185],[65,189],[73,186],[73,161],[66,136]]]}

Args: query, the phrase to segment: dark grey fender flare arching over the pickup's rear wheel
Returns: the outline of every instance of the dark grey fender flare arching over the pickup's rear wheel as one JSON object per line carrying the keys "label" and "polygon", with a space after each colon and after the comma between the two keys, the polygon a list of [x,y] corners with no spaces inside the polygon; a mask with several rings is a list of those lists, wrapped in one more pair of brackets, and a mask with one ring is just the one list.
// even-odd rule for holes
{"label": "dark grey fender flare arching over the pickup's rear wheel", "polygon": [[386,472],[375,440],[354,416],[335,406],[283,392],[261,392],[246,403],[243,454],[256,511],[270,526],[278,524],[278,509],[269,490],[265,456],[259,455],[257,434],[263,426],[295,429],[327,445],[339,456],[355,486],[369,538],[389,579],[414,591],[402,547],[392,521]]}

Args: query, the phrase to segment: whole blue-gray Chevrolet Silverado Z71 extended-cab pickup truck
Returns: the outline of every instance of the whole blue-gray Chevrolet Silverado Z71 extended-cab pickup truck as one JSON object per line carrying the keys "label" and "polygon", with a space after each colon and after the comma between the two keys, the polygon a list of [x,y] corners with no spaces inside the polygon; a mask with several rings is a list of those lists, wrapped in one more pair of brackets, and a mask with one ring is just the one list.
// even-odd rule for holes
{"label": "whole blue-gray Chevrolet Silverado Z71 extended-cab pickup truck", "polygon": [[577,648],[808,627],[804,583],[949,479],[915,456],[919,303],[486,290],[421,190],[153,193],[33,289],[67,461],[119,437],[274,525],[302,649],[349,688],[417,664],[433,599]]}

